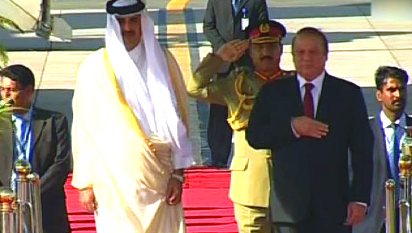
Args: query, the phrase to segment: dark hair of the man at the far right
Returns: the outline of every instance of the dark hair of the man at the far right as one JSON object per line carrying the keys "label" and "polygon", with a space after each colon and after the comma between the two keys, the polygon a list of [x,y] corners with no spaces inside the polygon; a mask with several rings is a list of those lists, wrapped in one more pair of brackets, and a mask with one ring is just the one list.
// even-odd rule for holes
{"label": "dark hair of the man at the far right", "polygon": [[379,66],[379,68],[375,72],[376,88],[378,90],[382,90],[383,86],[385,85],[385,82],[387,82],[387,79],[389,77],[398,79],[398,81],[402,84],[405,84],[405,86],[407,85],[409,79],[407,71],[404,71],[398,67]]}

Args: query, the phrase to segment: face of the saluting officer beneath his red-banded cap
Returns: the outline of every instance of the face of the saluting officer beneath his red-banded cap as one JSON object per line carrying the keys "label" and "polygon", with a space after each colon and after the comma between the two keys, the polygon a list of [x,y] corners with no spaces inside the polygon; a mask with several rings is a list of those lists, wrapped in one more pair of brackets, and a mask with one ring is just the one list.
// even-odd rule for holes
{"label": "face of the saluting officer beneath his red-banded cap", "polygon": [[262,44],[251,44],[250,56],[256,71],[272,75],[279,71],[280,57],[282,56],[282,45],[279,42],[268,42]]}

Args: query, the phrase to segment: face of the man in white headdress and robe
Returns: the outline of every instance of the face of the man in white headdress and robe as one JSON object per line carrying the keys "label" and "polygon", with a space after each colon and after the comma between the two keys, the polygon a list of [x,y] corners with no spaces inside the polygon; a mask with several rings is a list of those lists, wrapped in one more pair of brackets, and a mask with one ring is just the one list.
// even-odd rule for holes
{"label": "face of the man in white headdress and robe", "polygon": [[128,17],[117,17],[120,29],[122,29],[122,37],[124,47],[127,51],[134,49],[141,40],[141,16],[140,14]]}

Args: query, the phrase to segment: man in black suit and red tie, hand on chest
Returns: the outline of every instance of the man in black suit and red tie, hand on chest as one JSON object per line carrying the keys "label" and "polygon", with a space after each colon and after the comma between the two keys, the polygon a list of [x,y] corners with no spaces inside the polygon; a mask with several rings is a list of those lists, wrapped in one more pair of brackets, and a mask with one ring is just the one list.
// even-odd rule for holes
{"label": "man in black suit and red tie, hand on chest", "polygon": [[272,150],[274,221],[297,233],[351,232],[365,216],[371,190],[365,101],[358,86],[325,72],[328,40],[318,29],[300,29],[292,50],[297,75],[263,86],[247,140]]}

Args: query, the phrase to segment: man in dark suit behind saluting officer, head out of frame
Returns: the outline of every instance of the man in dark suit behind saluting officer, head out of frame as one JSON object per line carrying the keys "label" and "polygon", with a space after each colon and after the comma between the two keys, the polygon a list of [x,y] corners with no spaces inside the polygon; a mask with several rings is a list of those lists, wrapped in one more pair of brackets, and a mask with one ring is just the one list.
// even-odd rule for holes
{"label": "man in dark suit behind saluting officer, head out of frame", "polygon": [[[265,0],[209,0],[203,19],[203,32],[216,52],[231,40],[247,39],[248,25],[258,25],[267,19]],[[237,62],[228,63],[218,73],[218,78],[227,77],[234,65],[253,67],[253,62],[249,56],[242,56]],[[232,130],[226,119],[227,107],[211,103],[207,141],[211,150],[211,164],[218,167],[227,167],[231,151]]]}

